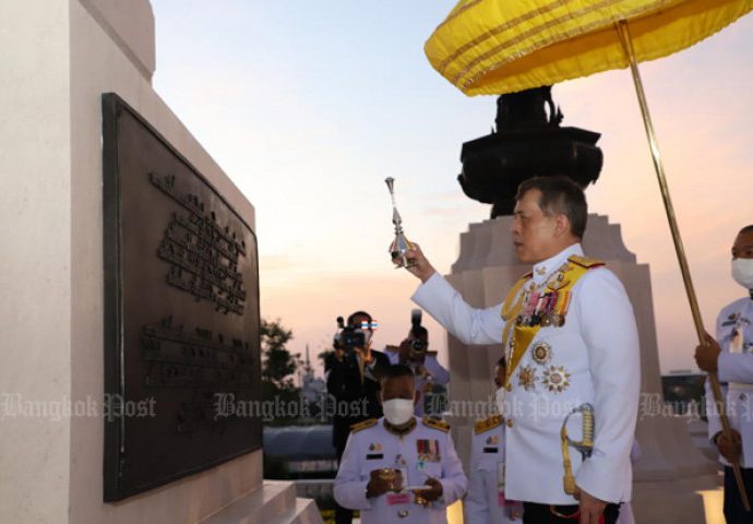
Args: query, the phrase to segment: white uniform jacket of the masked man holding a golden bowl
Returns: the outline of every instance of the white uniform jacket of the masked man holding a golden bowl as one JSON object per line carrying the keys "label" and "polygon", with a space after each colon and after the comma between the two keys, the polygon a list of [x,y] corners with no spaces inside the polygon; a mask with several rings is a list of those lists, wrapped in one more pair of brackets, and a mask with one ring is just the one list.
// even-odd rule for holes
{"label": "white uniform jacket of the masked man holding a golden bowl", "polygon": [[[441,420],[416,421],[416,427],[402,437],[384,427],[384,418],[354,426],[335,477],[334,496],[342,507],[360,510],[362,524],[446,523],[446,507],[465,493],[468,479],[450,437],[450,426]],[[437,478],[442,484],[442,496],[426,507],[416,503],[413,492],[387,492],[367,499],[371,472],[383,467],[402,469],[407,486],[422,486],[427,478]]]}

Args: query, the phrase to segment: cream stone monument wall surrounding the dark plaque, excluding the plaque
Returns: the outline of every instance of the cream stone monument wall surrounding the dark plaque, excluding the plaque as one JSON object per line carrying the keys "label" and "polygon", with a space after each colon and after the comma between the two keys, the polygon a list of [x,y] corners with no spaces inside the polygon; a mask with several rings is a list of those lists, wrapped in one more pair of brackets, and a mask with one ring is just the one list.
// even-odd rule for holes
{"label": "cream stone monument wall surrounding the dark plaque, excluding the plaque", "polygon": [[143,115],[252,228],[254,209],[152,88],[148,0],[3,1],[0,20],[0,522],[246,522],[222,520],[243,507],[321,522],[263,483],[261,450],[103,502],[101,94]]}

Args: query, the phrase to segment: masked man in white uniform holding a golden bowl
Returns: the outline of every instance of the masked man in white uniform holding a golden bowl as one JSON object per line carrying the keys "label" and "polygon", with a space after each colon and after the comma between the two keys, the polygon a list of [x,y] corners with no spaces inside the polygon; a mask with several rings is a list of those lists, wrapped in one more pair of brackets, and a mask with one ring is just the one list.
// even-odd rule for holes
{"label": "masked man in white uniform holding a golden bowl", "polygon": [[465,493],[468,479],[450,426],[415,417],[415,398],[413,371],[391,366],[382,378],[384,417],[350,432],[334,496],[360,510],[363,524],[446,523],[446,507]]}

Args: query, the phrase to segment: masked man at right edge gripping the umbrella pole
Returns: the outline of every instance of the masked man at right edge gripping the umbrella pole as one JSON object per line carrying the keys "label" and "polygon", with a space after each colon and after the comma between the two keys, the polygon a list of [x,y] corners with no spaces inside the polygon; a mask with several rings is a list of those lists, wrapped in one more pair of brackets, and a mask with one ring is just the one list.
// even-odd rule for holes
{"label": "masked man at right edge gripping the umbrella pole", "polygon": [[695,349],[695,360],[704,371],[717,371],[727,396],[731,438],[721,433],[721,422],[706,382],[708,434],[725,465],[725,519],[728,524],[753,522],[745,512],[730,462],[740,461],[748,499],[753,500],[753,225],[743,227],[732,245],[732,278],[749,296],[721,310],[716,321],[716,340],[708,333],[706,344]]}

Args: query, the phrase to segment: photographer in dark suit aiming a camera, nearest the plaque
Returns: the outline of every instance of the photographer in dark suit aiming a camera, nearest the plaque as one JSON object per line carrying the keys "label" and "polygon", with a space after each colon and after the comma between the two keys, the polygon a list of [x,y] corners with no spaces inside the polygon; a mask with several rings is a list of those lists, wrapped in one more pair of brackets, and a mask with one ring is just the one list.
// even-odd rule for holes
{"label": "photographer in dark suit aiming a camera, nearest the plaque", "polygon": [[[355,424],[382,416],[380,377],[390,360],[371,349],[375,323],[366,311],[348,317],[347,325],[338,319],[340,330],[335,336],[334,353],[324,362],[327,370],[326,389],[334,398],[332,443],[339,462]],[[349,524],[352,510],[335,507],[335,523]]]}

